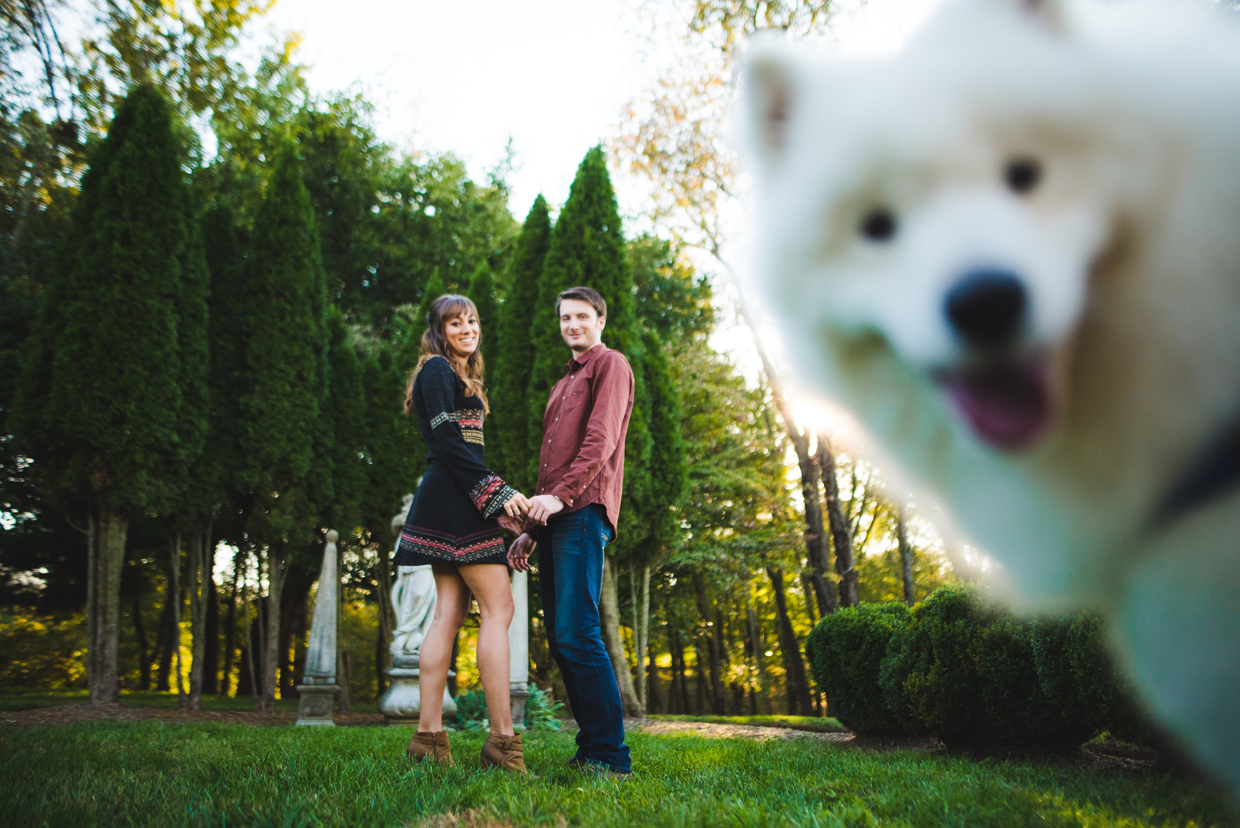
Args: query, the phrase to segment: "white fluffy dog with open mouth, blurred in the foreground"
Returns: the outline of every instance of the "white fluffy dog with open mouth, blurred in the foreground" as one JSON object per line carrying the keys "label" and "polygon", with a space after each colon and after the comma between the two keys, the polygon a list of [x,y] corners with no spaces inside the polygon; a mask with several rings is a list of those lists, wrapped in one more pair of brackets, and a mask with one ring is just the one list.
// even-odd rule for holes
{"label": "white fluffy dog with open mouth, blurred in the foreground", "polygon": [[949,0],[894,58],[755,41],[758,289],[1034,605],[1092,606],[1240,791],[1240,35]]}

